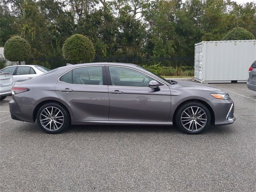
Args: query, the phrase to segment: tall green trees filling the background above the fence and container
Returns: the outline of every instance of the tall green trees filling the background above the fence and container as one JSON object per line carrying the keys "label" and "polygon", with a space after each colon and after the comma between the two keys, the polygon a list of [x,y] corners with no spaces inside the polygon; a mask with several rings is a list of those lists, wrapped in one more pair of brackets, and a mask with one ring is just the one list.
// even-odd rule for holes
{"label": "tall green trees filling the background above the fence and container", "polygon": [[96,58],[193,57],[194,44],[236,27],[256,36],[256,5],[232,0],[1,0],[0,46],[15,35],[32,58],[62,57],[73,34],[92,40]]}

